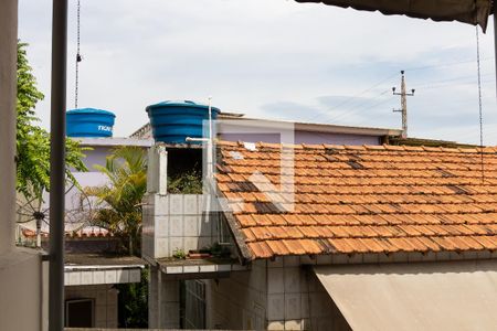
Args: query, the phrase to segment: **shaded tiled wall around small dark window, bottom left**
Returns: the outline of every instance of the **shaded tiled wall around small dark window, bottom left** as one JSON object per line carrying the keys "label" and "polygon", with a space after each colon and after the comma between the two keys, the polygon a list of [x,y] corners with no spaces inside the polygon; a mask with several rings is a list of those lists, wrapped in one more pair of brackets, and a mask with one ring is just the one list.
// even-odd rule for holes
{"label": "shaded tiled wall around small dark window, bottom left", "polygon": [[112,285],[66,286],[65,300],[94,299],[95,327],[117,328],[117,295]]}

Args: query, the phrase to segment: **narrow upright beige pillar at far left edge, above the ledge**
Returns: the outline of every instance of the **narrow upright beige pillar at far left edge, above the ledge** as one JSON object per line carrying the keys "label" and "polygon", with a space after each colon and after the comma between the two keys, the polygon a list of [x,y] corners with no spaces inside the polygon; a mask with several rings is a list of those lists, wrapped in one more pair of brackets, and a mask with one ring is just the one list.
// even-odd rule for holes
{"label": "narrow upright beige pillar at far left edge, above the ledge", "polygon": [[13,247],[18,0],[0,2],[0,255]]}

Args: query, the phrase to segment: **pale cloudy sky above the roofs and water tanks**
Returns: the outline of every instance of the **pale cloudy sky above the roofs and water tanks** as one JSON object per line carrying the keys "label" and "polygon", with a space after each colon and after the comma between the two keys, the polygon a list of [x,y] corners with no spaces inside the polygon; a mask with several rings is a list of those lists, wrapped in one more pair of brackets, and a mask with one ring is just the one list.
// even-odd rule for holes
{"label": "pale cloudy sky above the roofs and water tanks", "polygon": [[[76,0],[70,0],[67,109],[74,108]],[[50,126],[50,0],[19,1],[19,38]],[[491,19],[491,18],[490,18]],[[479,32],[484,143],[497,145],[494,31]],[[409,136],[479,143],[475,26],[293,0],[81,0],[78,106],[116,114],[114,135],[162,100],[248,117],[400,128],[405,71]]]}

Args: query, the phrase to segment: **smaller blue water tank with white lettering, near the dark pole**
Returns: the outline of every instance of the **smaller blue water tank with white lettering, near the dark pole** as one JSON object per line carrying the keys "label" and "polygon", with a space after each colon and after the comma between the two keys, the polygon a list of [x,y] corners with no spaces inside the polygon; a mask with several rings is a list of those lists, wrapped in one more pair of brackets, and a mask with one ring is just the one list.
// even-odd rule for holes
{"label": "smaller blue water tank with white lettering, near the dark pole", "polygon": [[105,138],[113,136],[116,116],[95,108],[72,109],[66,113],[67,137]]}

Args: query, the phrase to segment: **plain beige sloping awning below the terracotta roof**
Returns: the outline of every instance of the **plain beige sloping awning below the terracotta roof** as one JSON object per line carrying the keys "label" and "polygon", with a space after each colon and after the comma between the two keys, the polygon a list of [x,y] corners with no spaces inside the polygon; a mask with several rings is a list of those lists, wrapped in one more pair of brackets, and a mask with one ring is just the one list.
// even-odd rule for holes
{"label": "plain beige sloping awning below the terracotta roof", "polygon": [[314,270],[356,331],[497,328],[497,260]]}

